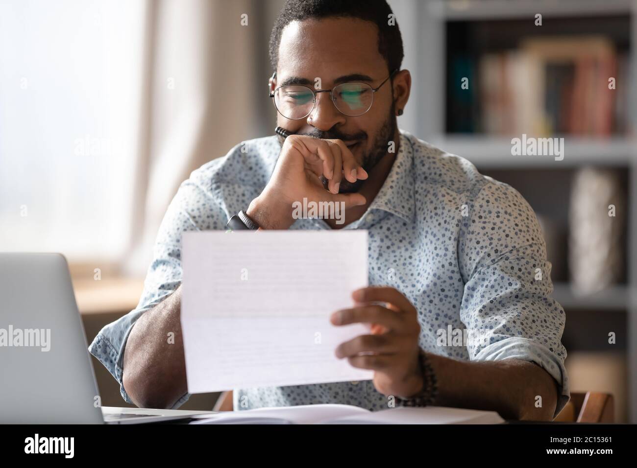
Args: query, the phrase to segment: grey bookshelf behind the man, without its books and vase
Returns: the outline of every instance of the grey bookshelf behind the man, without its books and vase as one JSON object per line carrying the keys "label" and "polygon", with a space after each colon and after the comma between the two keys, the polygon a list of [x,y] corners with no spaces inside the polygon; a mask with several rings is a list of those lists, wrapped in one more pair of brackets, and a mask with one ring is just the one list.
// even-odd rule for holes
{"label": "grey bookshelf behind the man, without its books and vase", "polygon": [[[403,13],[404,19],[400,23],[401,29],[404,29],[403,35],[417,38],[419,44],[411,51],[406,46],[405,67],[419,77],[412,91],[412,99],[418,105],[411,117],[403,118],[401,127],[438,148],[465,157],[487,175],[496,174],[495,178],[505,178],[505,182],[506,178],[510,178],[515,181],[512,183],[513,187],[519,190],[516,184],[525,188],[530,181],[544,180],[543,176],[550,175],[548,179],[564,187],[554,187],[551,189],[554,192],[548,190],[550,193],[545,197],[534,194],[529,187],[526,187],[527,192],[520,192],[527,197],[538,215],[543,210],[552,211],[553,216],[562,217],[564,225],[568,225],[566,218],[571,201],[554,200],[554,206],[550,206],[550,197],[564,195],[569,181],[578,169],[585,166],[608,167],[622,174],[626,184],[627,207],[625,280],[602,292],[580,296],[573,292],[568,273],[562,272],[559,278],[554,278],[554,297],[566,311],[569,342],[580,330],[588,330],[581,332],[580,342],[583,344],[578,343],[575,346],[581,346],[582,351],[593,350],[587,348],[586,341],[595,336],[596,329],[606,330],[610,326],[608,323],[616,328],[625,328],[618,333],[618,336],[622,334],[625,342],[613,348],[613,351],[621,353],[626,359],[626,417],[627,421],[637,423],[636,93],[628,89],[622,99],[626,105],[626,122],[620,132],[613,130],[603,136],[539,134],[541,137],[564,138],[566,154],[561,161],[556,161],[553,157],[512,156],[511,138],[519,137],[519,134],[488,134],[479,131],[480,129],[469,132],[454,131],[455,129],[450,131],[448,118],[448,86],[453,81],[448,73],[450,55],[463,48],[474,55],[492,53],[498,48],[515,48],[517,41],[529,34],[534,38],[560,34],[571,37],[591,34],[604,36],[617,51],[626,54],[626,81],[634,83],[637,64],[637,1],[429,0],[424,3],[392,2],[392,8],[399,18],[401,12]],[[406,13],[410,13],[410,17]],[[543,25],[533,29],[536,13],[541,13]],[[414,20],[414,16],[418,19]],[[410,54],[417,55],[417,59],[410,59]],[[627,88],[631,86],[628,85]],[[453,118],[452,115],[451,120]],[[562,248],[567,249],[568,245],[562,243]],[[596,350],[602,348],[603,346]],[[567,350],[571,351],[568,346]],[[623,389],[618,390],[619,394],[622,391]]]}

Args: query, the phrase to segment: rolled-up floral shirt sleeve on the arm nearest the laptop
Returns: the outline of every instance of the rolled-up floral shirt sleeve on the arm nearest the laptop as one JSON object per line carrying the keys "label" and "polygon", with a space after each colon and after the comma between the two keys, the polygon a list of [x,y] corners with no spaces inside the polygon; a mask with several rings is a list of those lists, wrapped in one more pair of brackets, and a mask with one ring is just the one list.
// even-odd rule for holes
{"label": "rolled-up floral shirt sleeve on the arm nearest the laptop", "polygon": [[[131,404],[124,388],[123,374],[124,350],[133,325],[143,313],[157,306],[181,284],[182,233],[188,230],[222,229],[225,225],[225,212],[215,202],[210,190],[194,181],[199,174],[197,171],[191,174],[190,179],[180,185],[169,204],[155,239],[153,260],[148,267],[138,306],[101,329],[89,346],[90,353],[118,381],[122,398]],[[189,396],[183,395],[173,408],[181,406]]]}

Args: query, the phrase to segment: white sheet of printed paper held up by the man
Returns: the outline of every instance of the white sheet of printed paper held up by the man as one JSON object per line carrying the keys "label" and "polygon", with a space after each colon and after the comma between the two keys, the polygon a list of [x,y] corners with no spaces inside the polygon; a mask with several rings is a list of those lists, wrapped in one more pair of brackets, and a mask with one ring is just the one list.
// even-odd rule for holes
{"label": "white sheet of printed paper held up by the man", "polygon": [[185,232],[189,393],[373,378],[334,355],[369,327],[329,322],[368,285],[367,260],[366,230]]}

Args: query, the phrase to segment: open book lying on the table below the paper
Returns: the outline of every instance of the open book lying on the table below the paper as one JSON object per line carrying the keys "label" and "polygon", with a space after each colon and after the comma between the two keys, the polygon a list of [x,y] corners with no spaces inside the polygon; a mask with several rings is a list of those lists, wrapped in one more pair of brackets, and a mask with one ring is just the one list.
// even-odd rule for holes
{"label": "open book lying on the table below the paper", "polygon": [[194,416],[191,424],[499,424],[495,411],[443,408],[390,408],[369,411],[346,404],[310,404]]}

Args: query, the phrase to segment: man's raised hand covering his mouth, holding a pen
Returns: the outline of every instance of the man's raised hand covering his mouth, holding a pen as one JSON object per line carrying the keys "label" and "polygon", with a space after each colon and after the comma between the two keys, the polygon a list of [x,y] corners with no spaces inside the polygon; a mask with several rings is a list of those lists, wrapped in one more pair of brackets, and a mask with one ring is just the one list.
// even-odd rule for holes
{"label": "man's raised hand covering his mouth, holding a pen", "polygon": [[[328,181],[327,190],[321,176]],[[338,193],[343,177],[352,183],[368,178],[343,141],[290,135],[268,185],[250,203],[246,214],[264,229],[288,229],[294,223],[292,203],[303,202],[303,198],[308,202],[345,202],[345,209],[364,205],[361,194]]]}

